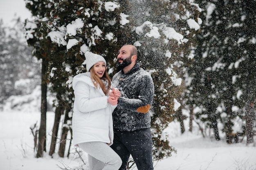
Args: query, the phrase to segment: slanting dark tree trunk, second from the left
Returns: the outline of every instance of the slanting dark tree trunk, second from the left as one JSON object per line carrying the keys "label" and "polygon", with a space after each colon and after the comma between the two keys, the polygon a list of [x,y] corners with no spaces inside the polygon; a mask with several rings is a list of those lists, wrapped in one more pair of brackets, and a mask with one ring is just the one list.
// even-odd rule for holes
{"label": "slanting dark tree trunk, second from the left", "polygon": [[52,156],[55,152],[56,142],[58,138],[58,127],[61,120],[61,115],[64,112],[64,107],[58,106],[55,110],[55,118],[54,118],[54,125],[52,128],[52,142],[49,150],[49,155]]}

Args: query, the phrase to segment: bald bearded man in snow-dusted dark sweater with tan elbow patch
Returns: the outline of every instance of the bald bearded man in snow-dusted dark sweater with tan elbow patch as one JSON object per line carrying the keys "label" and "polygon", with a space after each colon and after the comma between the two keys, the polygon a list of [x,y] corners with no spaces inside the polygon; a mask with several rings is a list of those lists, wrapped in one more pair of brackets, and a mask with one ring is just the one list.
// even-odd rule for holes
{"label": "bald bearded man in snow-dusted dark sweater with tan elbow patch", "polygon": [[137,48],[124,45],[117,56],[112,83],[121,92],[113,112],[114,144],[111,148],[121,157],[119,170],[126,170],[132,155],[138,170],[153,170],[150,105],[153,102],[153,80],[137,63]]}

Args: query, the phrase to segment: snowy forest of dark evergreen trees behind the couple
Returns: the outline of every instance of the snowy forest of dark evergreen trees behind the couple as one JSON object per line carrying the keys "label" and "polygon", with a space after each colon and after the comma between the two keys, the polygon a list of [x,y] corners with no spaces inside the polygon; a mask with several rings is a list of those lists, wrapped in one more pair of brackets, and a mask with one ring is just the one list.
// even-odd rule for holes
{"label": "snowy forest of dark evergreen trees behind the couple", "polygon": [[[25,2],[32,18],[17,17],[14,26],[0,21],[0,112],[40,112],[27,129],[34,157],[84,161],[72,146],[72,78],[86,71],[87,51],[106,59],[112,77],[124,44],[137,47],[153,78],[154,161],[177,153],[165,133],[171,122],[181,134],[198,131],[255,149],[256,0]],[[47,112],[54,113],[50,135]],[[134,166],[131,159],[128,168]]]}

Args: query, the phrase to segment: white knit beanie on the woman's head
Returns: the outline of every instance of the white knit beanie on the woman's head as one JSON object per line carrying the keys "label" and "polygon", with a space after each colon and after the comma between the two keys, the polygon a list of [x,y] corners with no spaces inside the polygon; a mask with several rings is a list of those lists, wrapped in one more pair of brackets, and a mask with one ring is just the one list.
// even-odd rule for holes
{"label": "white knit beanie on the woman's head", "polygon": [[106,65],[106,60],[99,54],[94,54],[92,52],[85,52],[85,62],[83,64],[86,64],[86,70],[89,72],[90,68],[99,61],[103,61]]}

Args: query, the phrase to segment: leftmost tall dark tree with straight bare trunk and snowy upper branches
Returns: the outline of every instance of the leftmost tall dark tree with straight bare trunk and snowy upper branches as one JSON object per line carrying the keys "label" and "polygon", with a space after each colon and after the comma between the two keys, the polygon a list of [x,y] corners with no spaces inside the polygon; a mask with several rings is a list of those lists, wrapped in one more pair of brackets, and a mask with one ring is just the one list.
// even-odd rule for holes
{"label": "leftmost tall dark tree with straight bare trunk and snowy upper branches", "polygon": [[[41,28],[42,19],[47,16],[50,3],[48,0],[27,0],[26,7],[34,16],[34,20],[25,21],[26,39],[29,46],[31,46],[32,54],[38,60],[42,61],[41,65],[41,119],[40,128],[38,131],[38,150],[36,157],[43,157],[43,152],[46,151],[46,112],[47,112],[47,78],[46,72],[48,69],[47,53],[50,48],[45,48],[43,42],[45,41],[45,30]],[[47,55],[48,54],[48,55]]]}

